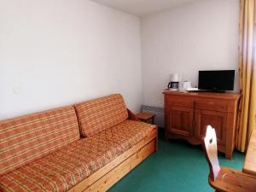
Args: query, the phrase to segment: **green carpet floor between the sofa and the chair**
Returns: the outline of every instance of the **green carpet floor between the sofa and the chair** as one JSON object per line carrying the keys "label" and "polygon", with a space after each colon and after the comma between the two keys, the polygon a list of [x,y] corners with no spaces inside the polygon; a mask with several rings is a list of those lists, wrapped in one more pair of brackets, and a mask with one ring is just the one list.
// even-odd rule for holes
{"label": "green carpet floor between the sofa and the chair", "polygon": [[[218,154],[220,166],[241,170],[244,154],[234,152],[232,160]],[[151,154],[108,192],[207,192],[209,169],[200,146],[183,141],[159,139],[159,151]]]}

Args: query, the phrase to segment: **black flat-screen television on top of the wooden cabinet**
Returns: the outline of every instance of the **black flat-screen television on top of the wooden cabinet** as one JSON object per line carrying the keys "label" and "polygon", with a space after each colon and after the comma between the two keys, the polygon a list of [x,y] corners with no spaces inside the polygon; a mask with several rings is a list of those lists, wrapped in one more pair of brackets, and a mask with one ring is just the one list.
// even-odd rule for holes
{"label": "black flat-screen television on top of the wooden cabinet", "polygon": [[201,90],[234,90],[235,70],[199,71],[198,88]]}

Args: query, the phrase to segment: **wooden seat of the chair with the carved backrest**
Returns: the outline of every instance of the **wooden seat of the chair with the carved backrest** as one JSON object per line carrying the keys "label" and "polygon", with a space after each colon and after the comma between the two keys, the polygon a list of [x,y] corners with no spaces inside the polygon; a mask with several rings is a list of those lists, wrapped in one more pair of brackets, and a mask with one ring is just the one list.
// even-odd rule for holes
{"label": "wooden seat of the chair with the carved backrest", "polygon": [[255,192],[256,177],[249,176],[243,172],[221,166],[218,177],[213,181],[209,177],[209,183],[213,189],[221,192]]}

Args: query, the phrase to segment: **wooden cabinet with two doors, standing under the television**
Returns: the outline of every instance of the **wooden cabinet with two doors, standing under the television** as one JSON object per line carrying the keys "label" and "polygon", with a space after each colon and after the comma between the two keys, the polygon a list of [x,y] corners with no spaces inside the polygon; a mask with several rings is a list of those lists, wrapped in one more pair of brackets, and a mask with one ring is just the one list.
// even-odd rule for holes
{"label": "wooden cabinet with two doors, standing under the television", "polygon": [[189,93],[164,91],[166,138],[183,138],[201,144],[207,125],[217,134],[218,150],[232,158],[235,147],[236,93]]}

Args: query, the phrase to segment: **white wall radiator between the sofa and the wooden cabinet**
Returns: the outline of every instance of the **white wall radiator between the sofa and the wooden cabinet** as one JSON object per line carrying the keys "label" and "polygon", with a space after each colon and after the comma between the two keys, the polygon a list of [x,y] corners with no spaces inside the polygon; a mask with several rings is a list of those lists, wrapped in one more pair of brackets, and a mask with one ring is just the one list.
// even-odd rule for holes
{"label": "white wall radiator between the sofa and the wooden cabinet", "polygon": [[164,119],[164,108],[142,105],[142,112],[154,113],[154,124],[159,127],[164,127],[165,119]]}

